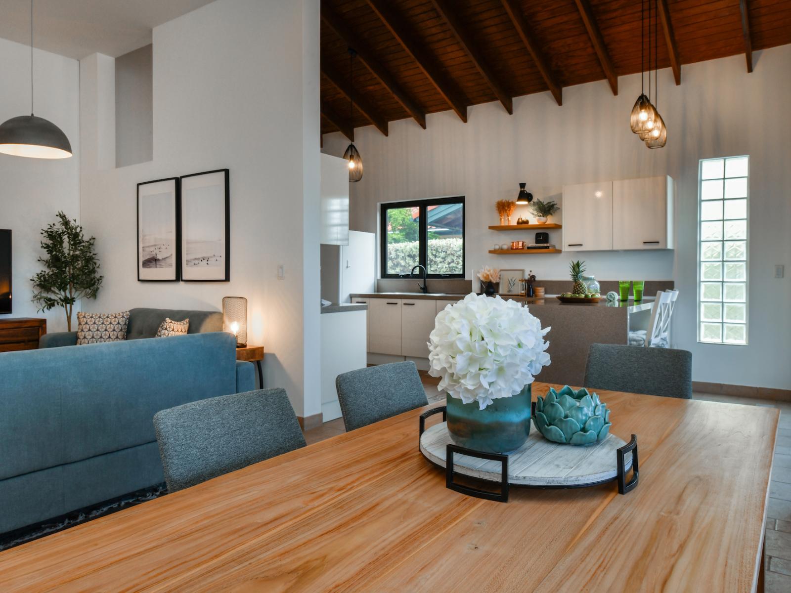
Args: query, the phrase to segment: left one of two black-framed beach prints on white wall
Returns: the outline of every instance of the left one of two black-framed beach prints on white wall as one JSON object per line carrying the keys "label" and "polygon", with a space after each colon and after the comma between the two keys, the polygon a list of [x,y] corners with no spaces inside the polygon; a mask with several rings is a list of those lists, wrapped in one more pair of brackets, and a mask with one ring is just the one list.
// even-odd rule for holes
{"label": "left one of two black-framed beach prints on white wall", "polygon": [[138,281],[179,279],[179,178],[138,183]]}

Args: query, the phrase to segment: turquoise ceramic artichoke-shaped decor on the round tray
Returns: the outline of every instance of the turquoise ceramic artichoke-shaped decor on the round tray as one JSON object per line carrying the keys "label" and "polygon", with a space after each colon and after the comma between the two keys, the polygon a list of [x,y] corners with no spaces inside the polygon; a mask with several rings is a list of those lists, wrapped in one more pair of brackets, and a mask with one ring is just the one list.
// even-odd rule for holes
{"label": "turquoise ceramic artichoke-shaped decor on the round tray", "polygon": [[553,388],[536,401],[536,426],[545,438],[555,443],[593,444],[610,432],[610,410],[599,396],[585,387],[574,391],[566,385]]}

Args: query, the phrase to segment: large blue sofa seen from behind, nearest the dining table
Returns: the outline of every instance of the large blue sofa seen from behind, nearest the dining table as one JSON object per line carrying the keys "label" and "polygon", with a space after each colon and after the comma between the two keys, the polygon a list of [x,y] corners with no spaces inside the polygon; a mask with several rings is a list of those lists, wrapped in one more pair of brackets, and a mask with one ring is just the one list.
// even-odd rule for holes
{"label": "large blue sofa seen from behind, nearest the dining table", "polygon": [[153,415],[254,383],[222,332],[0,353],[0,533],[164,482]]}

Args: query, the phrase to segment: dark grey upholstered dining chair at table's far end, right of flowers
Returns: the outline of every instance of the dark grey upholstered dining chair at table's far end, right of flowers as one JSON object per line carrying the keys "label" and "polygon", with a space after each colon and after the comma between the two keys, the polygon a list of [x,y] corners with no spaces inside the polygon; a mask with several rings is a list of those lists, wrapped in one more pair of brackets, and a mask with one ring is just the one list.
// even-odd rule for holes
{"label": "dark grey upholstered dining chair at table's far end, right of flowers", "polygon": [[692,353],[671,348],[591,344],[585,387],[689,399]]}

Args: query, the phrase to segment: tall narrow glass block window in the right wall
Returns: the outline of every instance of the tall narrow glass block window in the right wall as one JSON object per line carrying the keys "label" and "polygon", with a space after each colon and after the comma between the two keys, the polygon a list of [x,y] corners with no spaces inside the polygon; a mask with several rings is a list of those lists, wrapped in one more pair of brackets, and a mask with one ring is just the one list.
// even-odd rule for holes
{"label": "tall narrow glass block window in the right wall", "polygon": [[748,164],[700,161],[698,342],[747,344]]}

